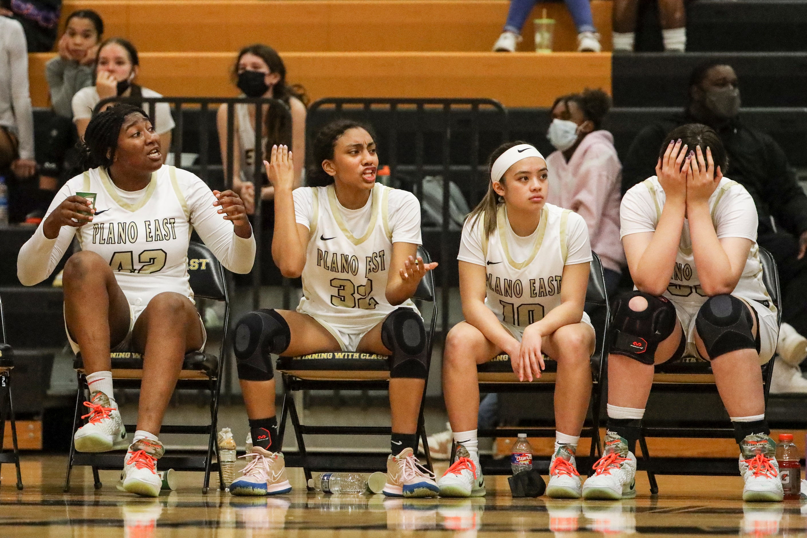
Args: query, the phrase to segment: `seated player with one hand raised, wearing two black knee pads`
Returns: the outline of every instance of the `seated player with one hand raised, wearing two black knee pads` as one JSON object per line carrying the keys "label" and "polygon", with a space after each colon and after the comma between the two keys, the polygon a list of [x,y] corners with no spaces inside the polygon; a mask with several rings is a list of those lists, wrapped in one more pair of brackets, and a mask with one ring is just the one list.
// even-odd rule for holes
{"label": "seated player with one hand raised, wearing two black knee pads", "polygon": [[362,124],[326,125],[312,153],[312,187],[294,191],[291,151],[274,146],[265,162],[274,187],[272,256],[284,276],[302,277],[303,298],[296,311],[261,309],[236,326],[252,449],[230,492],[291,491],[280,453],[271,355],[362,351],[389,357],[392,437],[384,494],[436,496],[433,475],[414,455],[429,357],[423,320],[410,298],[437,267],[416,255],[420,204],[412,193],[375,182],[376,145]]}

